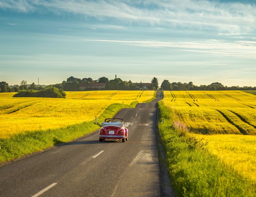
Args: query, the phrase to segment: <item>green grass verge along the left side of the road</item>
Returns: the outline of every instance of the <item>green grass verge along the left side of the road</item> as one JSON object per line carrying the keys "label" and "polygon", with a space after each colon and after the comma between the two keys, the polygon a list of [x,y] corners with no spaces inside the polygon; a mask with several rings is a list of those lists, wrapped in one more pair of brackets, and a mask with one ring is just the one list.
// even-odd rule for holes
{"label": "green grass verge along the left side of the road", "polygon": [[114,117],[123,108],[134,108],[138,102],[130,105],[112,104],[95,121],[74,124],[65,128],[46,131],[27,132],[0,139],[0,163],[20,158],[33,152],[43,151],[54,145],[70,142],[100,128],[106,118]]}

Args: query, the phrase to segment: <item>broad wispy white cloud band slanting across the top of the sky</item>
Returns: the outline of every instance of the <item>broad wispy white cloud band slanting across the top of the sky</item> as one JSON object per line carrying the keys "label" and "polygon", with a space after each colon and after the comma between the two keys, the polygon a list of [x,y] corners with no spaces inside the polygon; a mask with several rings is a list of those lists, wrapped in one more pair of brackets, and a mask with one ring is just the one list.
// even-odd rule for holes
{"label": "broad wispy white cloud band slanting across the top of the sky", "polygon": [[237,2],[4,0],[0,2],[0,8],[15,9],[25,13],[42,10],[58,14],[68,12],[94,17],[100,21],[114,19],[113,22],[116,24],[214,30],[224,35],[239,35],[242,32],[252,32],[256,29],[256,6]]}

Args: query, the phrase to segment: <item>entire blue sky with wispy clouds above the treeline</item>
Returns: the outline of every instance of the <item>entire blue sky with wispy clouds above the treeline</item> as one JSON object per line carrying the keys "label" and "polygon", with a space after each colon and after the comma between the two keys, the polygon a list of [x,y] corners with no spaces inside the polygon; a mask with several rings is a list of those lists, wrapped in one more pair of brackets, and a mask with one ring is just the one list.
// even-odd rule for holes
{"label": "entire blue sky with wispy clouds above the treeline", "polygon": [[256,86],[256,1],[0,0],[0,81]]}

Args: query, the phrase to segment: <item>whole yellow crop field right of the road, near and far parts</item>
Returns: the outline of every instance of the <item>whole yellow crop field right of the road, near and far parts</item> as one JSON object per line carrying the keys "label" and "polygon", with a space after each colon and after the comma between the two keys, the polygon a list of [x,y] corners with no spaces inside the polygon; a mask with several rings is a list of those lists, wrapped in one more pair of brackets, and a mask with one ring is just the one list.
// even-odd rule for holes
{"label": "whole yellow crop field right of the road, near and far parts", "polygon": [[209,142],[209,152],[256,183],[255,95],[242,91],[164,91],[163,101],[180,122],[198,133],[193,135]]}

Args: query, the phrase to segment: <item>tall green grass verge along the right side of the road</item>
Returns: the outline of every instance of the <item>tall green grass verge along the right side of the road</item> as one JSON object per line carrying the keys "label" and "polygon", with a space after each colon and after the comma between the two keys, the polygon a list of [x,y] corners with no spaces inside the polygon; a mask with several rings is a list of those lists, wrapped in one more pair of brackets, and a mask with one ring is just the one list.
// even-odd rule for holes
{"label": "tall green grass verge along the right side of the road", "polygon": [[177,118],[171,107],[158,105],[158,131],[176,196],[255,196],[255,184],[212,155],[205,148],[207,143],[182,126],[174,129]]}

